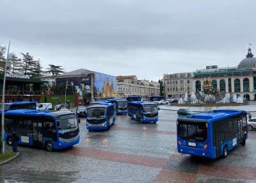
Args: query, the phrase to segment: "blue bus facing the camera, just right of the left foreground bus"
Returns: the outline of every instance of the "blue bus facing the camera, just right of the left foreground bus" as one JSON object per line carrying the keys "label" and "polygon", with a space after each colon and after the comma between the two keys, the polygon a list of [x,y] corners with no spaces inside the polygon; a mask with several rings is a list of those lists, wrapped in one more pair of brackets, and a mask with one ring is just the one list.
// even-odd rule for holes
{"label": "blue bus facing the camera, just right of the left foreground bus", "polygon": [[116,120],[115,104],[102,103],[86,109],[86,128],[88,131],[108,130]]}

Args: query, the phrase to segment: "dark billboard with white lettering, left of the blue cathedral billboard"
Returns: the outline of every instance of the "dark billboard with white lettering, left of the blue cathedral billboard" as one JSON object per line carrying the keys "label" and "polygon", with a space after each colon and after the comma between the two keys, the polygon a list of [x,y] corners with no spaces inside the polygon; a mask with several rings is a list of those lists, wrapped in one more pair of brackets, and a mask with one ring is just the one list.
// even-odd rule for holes
{"label": "dark billboard with white lettering, left of the blue cathedral billboard", "polygon": [[79,93],[79,99],[83,98],[83,92],[92,92],[92,79],[90,75],[79,77],[57,77],[56,85],[67,84],[67,86],[73,86],[77,93]]}

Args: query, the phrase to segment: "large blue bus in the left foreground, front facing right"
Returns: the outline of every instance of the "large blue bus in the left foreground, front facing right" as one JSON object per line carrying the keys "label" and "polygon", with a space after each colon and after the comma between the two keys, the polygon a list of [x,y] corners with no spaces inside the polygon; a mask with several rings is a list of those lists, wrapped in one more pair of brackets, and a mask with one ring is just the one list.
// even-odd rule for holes
{"label": "large blue bus in the left foreground, front facing right", "polygon": [[4,113],[4,123],[4,139],[8,145],[13,144],[15,130],[19,144],[39,145],[48,151],[79,143],[79,124],[76,115],[69,111],[11,110]]}

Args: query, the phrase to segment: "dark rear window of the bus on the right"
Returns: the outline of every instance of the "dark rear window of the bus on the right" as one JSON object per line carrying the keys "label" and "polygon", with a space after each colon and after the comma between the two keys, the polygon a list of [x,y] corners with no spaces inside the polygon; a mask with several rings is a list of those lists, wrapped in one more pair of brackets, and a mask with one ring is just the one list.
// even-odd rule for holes
{"label": "dark rear window of the bus on the right", "polygon": [[207,137],[206,123],[178,122],[178,134],[182,139],[205,141]]}

